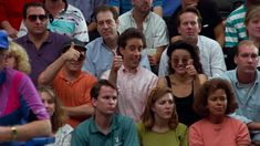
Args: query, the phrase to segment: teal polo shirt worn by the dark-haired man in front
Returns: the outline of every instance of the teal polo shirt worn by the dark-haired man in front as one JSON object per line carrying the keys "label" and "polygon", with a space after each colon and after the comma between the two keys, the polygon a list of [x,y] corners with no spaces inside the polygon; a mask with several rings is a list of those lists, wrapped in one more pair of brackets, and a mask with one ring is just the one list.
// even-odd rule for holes
{"label": "teal polo shirt worn by the dark-haired man in front", "polygon": [[108,133],[103,134],[93,117],[81,123],[72,133],[72,146],[139,146],[132,118],[113,115]]}

